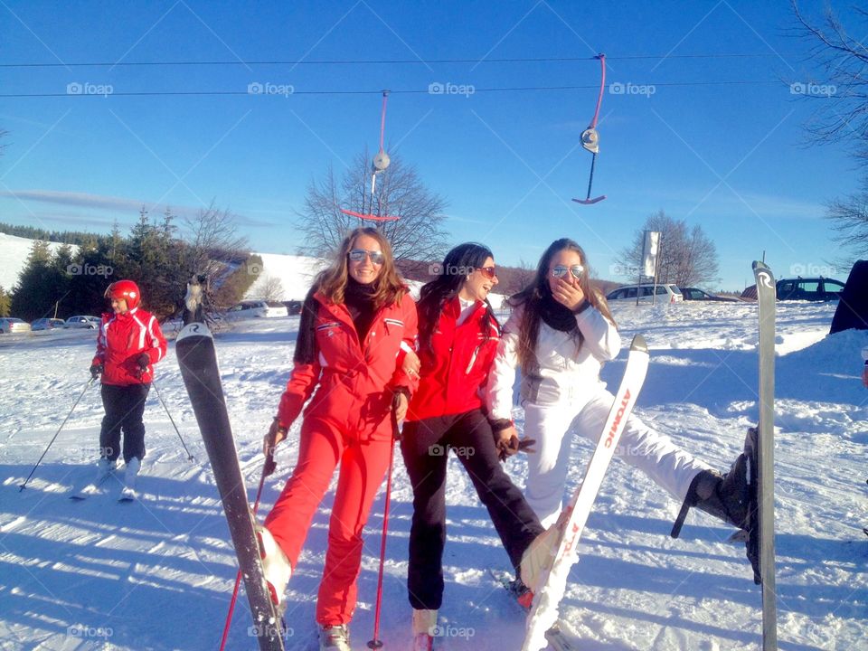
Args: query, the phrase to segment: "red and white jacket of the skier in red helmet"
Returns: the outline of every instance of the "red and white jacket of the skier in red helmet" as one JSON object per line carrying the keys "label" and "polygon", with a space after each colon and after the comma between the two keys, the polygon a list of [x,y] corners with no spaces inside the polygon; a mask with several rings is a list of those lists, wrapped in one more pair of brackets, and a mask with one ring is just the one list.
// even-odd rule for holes
{"label": "red and white jacket of the skier in red helmet", "polygon": [[[151,360],[144,372],[137,362],[142,353]],[[150,312],[134,307],[122,315],[102,315],[93,363],[102,365],[103,384],[149,384],[154,380],[151,364],[164,357],[165,337]]]}

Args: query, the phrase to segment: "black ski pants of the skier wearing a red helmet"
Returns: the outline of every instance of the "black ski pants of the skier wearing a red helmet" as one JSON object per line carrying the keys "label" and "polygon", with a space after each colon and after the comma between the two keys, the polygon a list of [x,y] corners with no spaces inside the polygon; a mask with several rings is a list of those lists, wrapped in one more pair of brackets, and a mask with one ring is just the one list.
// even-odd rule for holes
{"label": "black ski pants of the skier wearing a red helmet", "polygon": [[145,401],[150,384],[102,385],[106,415],[99,429],[99,457],[116,461],[120,456],[120,432],[124,432],[124,461],[145,458]]}

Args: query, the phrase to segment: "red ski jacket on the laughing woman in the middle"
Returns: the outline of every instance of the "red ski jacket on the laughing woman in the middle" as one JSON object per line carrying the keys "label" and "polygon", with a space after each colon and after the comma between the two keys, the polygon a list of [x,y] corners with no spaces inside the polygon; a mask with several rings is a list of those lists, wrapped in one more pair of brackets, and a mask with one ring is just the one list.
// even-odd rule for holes
{"label": "red ski jacket on the laughing woman in the middle", "polygon": [[500,341],[500,327],[495,319],[488,318],[487,323],[482,323],[485,311],[486,304],[478,301],[473,314],[457,325],[461,314],[458,297],[443,307],[438,327],[431,336],[433,353],[419,353],[422,377],[410,401],[407,420],[465,413],[485,404],[488,371]]}

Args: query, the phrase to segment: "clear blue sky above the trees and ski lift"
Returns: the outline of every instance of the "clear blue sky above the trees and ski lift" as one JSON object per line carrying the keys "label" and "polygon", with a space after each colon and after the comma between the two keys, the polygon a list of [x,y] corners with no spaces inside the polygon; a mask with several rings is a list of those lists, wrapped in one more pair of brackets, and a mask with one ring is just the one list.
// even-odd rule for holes
{"label": "clear blue sky above the trees and ski lift", "polygon": [[[822,6],[802,5],[814,17]],[[447,199],[452,243],[484,241],[501,264],[535,262],[569,236],[599,277],[626,281],[618,252],[663,209],[716,243],[710,288],[752,284],[763,252],[778,277],[848,272],[823,216],[860,172],[845,143],[808,144],[804,125],[827,100],[789,84],[824,80],[788,33],[786,2],[2,0],[0,16],[0,62],[53,64],[0,67],[2,222],[126,230],[143,203],[193,214],[214,200],[254,249],[295,252],[307,183],[376,149],[388,88],[387,151]],[[493,60],[597,52],[609,68],[594,194],[609,198],[581,206],[599,63]],[[469,62],[434,62],[446,59]],[[315,62],[338,60],[411,62]],[[223,64],[121,65],[146,61]],[[74,65],[95,62],[112,65]],[[249,94],[257,83],[294,92]],[[429,94],[432,83],[477,91]],[[485,91],[563,86],[579,88]],[[306,94],[347,90],[370,92]],[[124,95],[203,91],[234,94]]]}

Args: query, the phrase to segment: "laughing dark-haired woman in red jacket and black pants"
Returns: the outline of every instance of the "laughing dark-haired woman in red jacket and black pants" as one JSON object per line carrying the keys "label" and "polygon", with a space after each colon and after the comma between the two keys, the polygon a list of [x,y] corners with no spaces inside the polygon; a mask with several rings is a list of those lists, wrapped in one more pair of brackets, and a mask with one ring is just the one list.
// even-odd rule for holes
{"label": "laughing dark-haired woman in red jacket and black pants", "polygon": [[500,325],[487,299],[496,284],[491,250],[468,242],[447,253],[439,277],[420,291],[421,379],[401,438],[413,486],[407,589],[414,651],[431,648],[443,600],[450,450],[467,470],[522,579],[533,581],[527,574],[537,569],[523,561],[542,525],[500,464],[500,458],[518,451],[518,438],[510,420],[489,421],[484,409],[483,392],[500,341]]}

